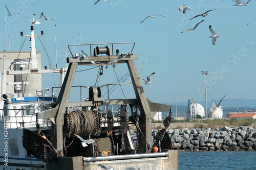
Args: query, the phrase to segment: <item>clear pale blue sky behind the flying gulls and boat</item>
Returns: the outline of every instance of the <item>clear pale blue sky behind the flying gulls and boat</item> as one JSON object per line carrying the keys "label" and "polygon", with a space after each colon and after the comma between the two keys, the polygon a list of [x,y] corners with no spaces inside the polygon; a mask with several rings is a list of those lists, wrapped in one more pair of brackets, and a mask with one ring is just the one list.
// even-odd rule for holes
{"label": "clear pale blue sky behind the flying gulls and boat", "polygon": [[[246,1],[247,2],[247,1]],[[135,42],[133,53],[138,55],[136,65],[139,76],[146,78],[152,72],[152,86],[144,86],[146,97],[153,102],[175,101],[186,102],[194,98],[205,100],[204,75],[201,71],[208,71],[207,100],[217,100],[226,95],[225,99],[255,99],[255,7],[256,2],[250,1],[248,6],[236,7],[232,1],[135,1],[111,0],[100,1],[39,1],[20,0],[7,1],[6,5],[11,13],[21,12],[19,15],[6,16],[6,47],[5,50],[19,51],[23,43],[19,34],[30,34],[31,22],[26,18],[38,18],[33,14],[44,12],[53,18],[40,20],[41,24],[34,27],[35,34],[44,30],[41,38],[45,42],[46,50],[54,65],[55,35],[57,42],[58,67],[65,67],[66,44]],[[191,8],[185,14],[178,11],[181,5]],[[4,21],[5,1],[0,3],[0,42],[1,51],[4,50]],[[210,11],[206,17],[189,18]],[[146,16],[147,18],[140,23]],[[204,19],[197,32],[188,31],[196,23]],[[246,23],[250,23],[248,26]],[[216,45],[212,45],[209,25],[221,36]],[[23,51],[29,51],[30,44],[26,40]],[[44,48],[36,38],[36,50],[42,55],[42,66],[48,65]],[[123,48],[125,53],[131,50],[131,45]],[[72,53],[79,52],[80,47],[73,48]],[[68,52],[68,57],[71,57]],[[92,66],[78,67],[78,70]],[[116,66],[117,77],[127,71],[125,64]],[[92,86],[96,82],[98,68],[81,71],[77,74],[73,85]],[[114,69],[103,70],[103,76],[98,85],[113,83],[117,79]],[[48,81],[53,82],[50,78]],[[56,80],[55,80],[56,81]],[[124,83],[129,83],[126,79]],[[48,87],[44,85],[45,87]],[[53,85],[54,86],[54,85]],[[56,85],[57,86],[57,85]],[[49,88],[49,87],[48,87]],[[113,92],[112,98],[134,98],[133,88],[124,86],[124,96],[120,88]],[[88,92],[82,98],[88,97]],[[70,96],[73,100],[73,96]],[[223,106],[224,107],[224,106]]]}

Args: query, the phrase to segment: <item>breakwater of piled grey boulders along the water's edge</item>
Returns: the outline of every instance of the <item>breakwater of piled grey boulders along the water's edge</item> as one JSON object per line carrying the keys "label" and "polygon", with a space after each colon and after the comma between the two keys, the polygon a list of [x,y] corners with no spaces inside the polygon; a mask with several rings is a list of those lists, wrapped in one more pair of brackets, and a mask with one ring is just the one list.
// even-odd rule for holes
{"label": "breakwater of piled grey boulders along the water's edge", "polygon": [[[152,130],[153,140],[158,130]],[[256,128],[168,129],[175,150],[180,151],[256,151]],[[130,131],[136,143],[135,131]],[[154,141],[155,142],[155,141]]]}

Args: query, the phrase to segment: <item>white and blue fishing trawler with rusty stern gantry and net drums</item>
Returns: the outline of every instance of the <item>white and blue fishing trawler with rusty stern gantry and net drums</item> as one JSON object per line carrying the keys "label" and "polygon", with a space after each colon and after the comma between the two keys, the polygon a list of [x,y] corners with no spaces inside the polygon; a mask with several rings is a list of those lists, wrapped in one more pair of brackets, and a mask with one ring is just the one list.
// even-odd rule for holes
{"label": "white and blue fishing trawler with rusty stern gantry and net drums", "polygon": [[[41,70],[35,67],[34,37],[31,26],[31,58],[27,62],[15,63],[31,64],[31,67],[25,70],[24,66],[18,65],[19,70],[3,68],[1,72],[4,102],[0,110],[0,142],[4,144],[0,147],[0,169],[178,169],[178,153],[172,150],[165,131],[170,123],[172,106],[146,99],[135,65],[134,42],[68,45],[71,57],[67,57],[67,69]],[[116,55],[113,55],[115,45],[123,44],[132,44],[131,52],[119,54],[116,49]],[[88,46],[90,55],[72,51],[75,46]],[[135,99],[103,100],[102,86],[87,88],[81,85],[81,88],[88,89],[88,98],[78,102],[68,101],[78,66],[99,66],[99,76],[102,76],[103,65],[115,69],[113,61],[118,66],[127,65]],[[60,75],[61,85],[51,88],[59,88],[57,97],[53,93],[44,95],[41,89],[37,89],[41,86],[37,85],[33,86],[35,96],[26,93],[25,84],[33,83],[24,80],[15,79],[13,93],[4,88],[8,84],[6,75],[51,72]],[[114,115],[114,110],[109,107],[103,110],[102,106],[118,106],[118,110]],[[129,108],[131,113],[127,111]],[[152,118],[158,111],[169,111],[170,115],[164,120],[166,128],[159,131],[156,142],[153,142]],[[137,143],[131,141],[131,125],[137,128]],[[153,152],[154,147],[158,151]]]}

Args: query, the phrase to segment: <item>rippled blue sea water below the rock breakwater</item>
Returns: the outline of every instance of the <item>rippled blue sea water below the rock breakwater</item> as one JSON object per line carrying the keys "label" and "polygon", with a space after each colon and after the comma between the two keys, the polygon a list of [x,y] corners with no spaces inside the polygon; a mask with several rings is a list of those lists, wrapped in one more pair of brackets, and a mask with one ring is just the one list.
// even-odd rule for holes
{"label": "rippled blue sea water below the rock breakwater", "polygon": [[256,170],[256,151],[179,152],[181,169]]}

